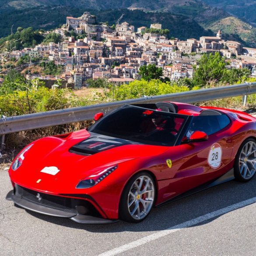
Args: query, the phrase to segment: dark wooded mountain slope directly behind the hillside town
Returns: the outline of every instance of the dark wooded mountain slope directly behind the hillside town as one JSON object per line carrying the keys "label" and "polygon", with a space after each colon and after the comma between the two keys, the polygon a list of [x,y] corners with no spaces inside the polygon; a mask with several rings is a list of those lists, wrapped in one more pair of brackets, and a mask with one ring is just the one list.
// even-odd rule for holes
{"label": "dark wooded mountain slope directly behind the hillside town", "polygon": [[56,28],[66,22],[66,16],[79,17],[84,11],[110,25],[122,13],[122,21],[136,28],[159,22],[179,39],[199,39],[221,29],[224,38],[256,47],[255,27],[201,0],[0,0],[0,37],[9,35],[12,26],[13,31],[28,26]]}

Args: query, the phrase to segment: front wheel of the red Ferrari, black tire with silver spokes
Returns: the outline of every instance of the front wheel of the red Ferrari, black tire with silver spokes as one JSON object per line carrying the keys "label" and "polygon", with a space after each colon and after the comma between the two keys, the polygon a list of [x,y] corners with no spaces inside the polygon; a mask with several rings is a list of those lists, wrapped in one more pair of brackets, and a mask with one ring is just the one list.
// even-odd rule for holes
{"label": "front wheel of the red Ferrari, black tire with silver spokes", "polygon": [[[141,179],[143,179],[142,186],[141,186],[142,190],[139,190],[137,189],[137,186],[135,185],[135,183],[137,185],[140,185]],[[150,192],[148,193],[145,192],[142,194],[138,193],[138,192],[143,192],[143,189],[146,187],[147,180],[150,180],[150,181],[148,182],[146,189],[148,189],[148,191]],[[136,195],[136,197],[135,196],[133,197],[132,194]],[[123,189],[123,193],[119,203],[119,219],[127,222],[132,222],[132,223],[143,221],[148,216],[152,207],[154,206],[155,196],[156,196],[156,189],[155,189],[154,178],[152,177],[152,175],[147,172],[139,172],[135,174],[126,183],[126,186]],[[147,197],[147,200],[145,200],[146,199],[145,197]],[[133,199],[134,199],[134,202],[133,202]],[[132,203],[130,207],[128,206],[128,203]],[[133,210],[135,210],[136,207],[138,208],[135,211],[137,215],[135,213],[132,215],[132,212]],[[143,211],[141,211],[140,213],[141,216],[140,216],[140,214],[138,213],[140,212],[141,208],[144,208],[146,212],[143,213]]]}

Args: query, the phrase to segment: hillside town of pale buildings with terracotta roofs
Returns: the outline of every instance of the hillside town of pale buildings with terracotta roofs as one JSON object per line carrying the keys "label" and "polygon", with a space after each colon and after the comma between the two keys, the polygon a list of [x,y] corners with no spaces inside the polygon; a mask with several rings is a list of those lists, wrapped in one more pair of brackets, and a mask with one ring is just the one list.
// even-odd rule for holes
{"label": "hillside town of pale buildings with terracotta roofs", "polygon": [[[81,39],[69,36],[70,31]],[[51,76],[31,72],[26,74],[26,78],[39,78],[49,84],[58,79],[64,86],[72,88],[86,86],[89,78],[128,84],[140,79],[139,68],[148,64],[161,67],[164,77],[170,80],[192,78],[196,60],[203,53],[215,52],[224,56],[228,68],[248,68],[251,76],[256,77],[256,49],[244,47],[239,42],[225,41],[220,30],[216,36],[186,41],[168,39],[162,31],[165,30],[161,24],[151,24],[150,29],[140,27],[137,31],[127,22],[109,27],[85,12],[81,18],[67,17],[66,24],[54,31],[61,36],[61,42],[2,52],[0,60],[30,56],[53,61],[62,66],[62,74]]]}

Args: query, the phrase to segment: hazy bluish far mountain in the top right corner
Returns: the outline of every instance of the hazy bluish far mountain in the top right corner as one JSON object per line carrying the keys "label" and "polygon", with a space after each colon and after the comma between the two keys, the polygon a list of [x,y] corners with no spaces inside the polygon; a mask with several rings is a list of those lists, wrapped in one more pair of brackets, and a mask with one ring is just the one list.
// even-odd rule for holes
{"label": "hazy bluish far mountain in the top right corner", "polygon": [[256,1],[255,0],[204,0],[210,6],[227,11],[229,14],[256,26]]}

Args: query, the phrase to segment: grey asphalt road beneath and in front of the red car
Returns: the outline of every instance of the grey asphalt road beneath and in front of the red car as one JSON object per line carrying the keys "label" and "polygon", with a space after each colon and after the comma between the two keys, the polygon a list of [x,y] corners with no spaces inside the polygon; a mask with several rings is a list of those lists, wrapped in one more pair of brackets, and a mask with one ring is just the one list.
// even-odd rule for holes
{"label": "grey asphalt road beneath and in front of the red car", "polygon": [[7,171],[0,170],[0,182],[0,256],[256,255],[256,177],[153,209],[139,224],[108,225],[77,224],[15,207],[5,200],[11,190]]}

